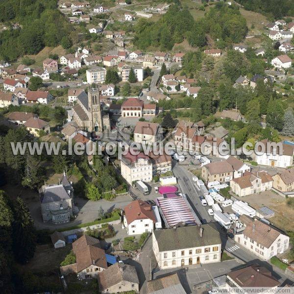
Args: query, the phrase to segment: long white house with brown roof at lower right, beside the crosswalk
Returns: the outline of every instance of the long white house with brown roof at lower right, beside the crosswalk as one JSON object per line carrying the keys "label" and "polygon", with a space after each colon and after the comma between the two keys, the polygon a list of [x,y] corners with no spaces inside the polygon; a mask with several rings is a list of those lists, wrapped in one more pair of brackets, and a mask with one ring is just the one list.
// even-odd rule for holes
{"label": "long white house with brown roof at lower right, beside the crosswalk", "polygon": [[242,215],[240,221],[245,230],[235,235],[235,241],[260,259],[269,260],[272,256],[289,248],[289,237],[269,224]]}

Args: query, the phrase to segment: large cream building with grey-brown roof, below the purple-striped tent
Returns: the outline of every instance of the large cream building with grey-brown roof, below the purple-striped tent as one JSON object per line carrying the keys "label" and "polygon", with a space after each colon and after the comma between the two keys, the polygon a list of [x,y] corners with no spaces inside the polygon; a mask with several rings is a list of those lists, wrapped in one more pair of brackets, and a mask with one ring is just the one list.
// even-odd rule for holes
{"label": "large cream building with grey-brown roof, below the purple-striped tent", "polygon": [[160,270],[221,261],[220,233],[209,224],[155,230],[152,239]]}

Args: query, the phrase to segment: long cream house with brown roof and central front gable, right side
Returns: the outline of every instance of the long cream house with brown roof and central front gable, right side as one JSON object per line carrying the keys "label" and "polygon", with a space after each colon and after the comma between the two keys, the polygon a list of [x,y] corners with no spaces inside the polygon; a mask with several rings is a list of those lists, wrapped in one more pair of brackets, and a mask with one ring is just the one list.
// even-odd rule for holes
{"label": "long cream house with brown roof and central front gable, right side", "polygon": [[272,177],[265,171],[245,172],[243,176],[231,180],[230,187],[233,193],[242,197],[270,190],[272,182]]}

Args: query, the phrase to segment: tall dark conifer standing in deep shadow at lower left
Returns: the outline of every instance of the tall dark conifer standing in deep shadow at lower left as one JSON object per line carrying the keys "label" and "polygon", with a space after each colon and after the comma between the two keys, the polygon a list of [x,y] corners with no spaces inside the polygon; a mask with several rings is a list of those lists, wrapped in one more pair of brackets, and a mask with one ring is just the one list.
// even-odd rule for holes
{"label": "tall dark conifer standing in deep shadow at lower left", "polygon": [[22,198],[17,197],[14,206],[13,251],[16,260],[27,263],[36,250],[36,232],[30,212]]}

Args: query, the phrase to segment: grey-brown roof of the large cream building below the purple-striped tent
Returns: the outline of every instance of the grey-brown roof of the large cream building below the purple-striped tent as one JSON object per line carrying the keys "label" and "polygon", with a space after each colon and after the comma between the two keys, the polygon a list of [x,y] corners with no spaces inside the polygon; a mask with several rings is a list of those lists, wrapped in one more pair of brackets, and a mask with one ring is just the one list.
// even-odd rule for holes
{"label": "grey-brown roof of the large cream building below the purple-striped tent", "polygon": [[197,225],[156,230],[153,233],[157,240],[159,251],[221,244],[220,233],[217,230],[209,224],[203,224],[201,228],[203,228],[202,237],[199,234],[200,227]]}

